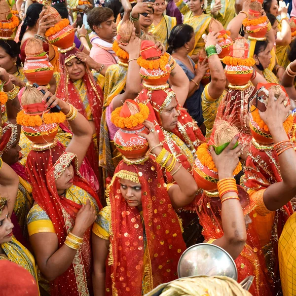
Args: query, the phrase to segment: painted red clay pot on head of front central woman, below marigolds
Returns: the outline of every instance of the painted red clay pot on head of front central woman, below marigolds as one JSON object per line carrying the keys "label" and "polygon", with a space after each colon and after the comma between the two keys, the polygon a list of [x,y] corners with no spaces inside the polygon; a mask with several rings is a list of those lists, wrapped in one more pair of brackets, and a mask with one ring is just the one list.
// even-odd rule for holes
{"label": "painted red clay pot on head of front central woman, below marigolds", "polygon": [[120,128],[114,135],[114,144],[122,155],[129,159],[143,157],[149,149],[145,138],[136,133],[149,134],[149,130],[140,124],[134,128]]}

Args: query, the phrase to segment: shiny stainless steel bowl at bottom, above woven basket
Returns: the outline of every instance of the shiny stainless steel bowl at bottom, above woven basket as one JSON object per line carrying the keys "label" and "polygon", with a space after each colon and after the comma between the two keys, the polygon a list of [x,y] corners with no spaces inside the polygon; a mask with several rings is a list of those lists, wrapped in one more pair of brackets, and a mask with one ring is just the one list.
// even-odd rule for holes
{"label": "shiny stainless steel bowl at bottom, above woven basket", "polygon": [[225,275],[237,281],[237,269],[232,257],[212,244],[197,244],[188,248],[178,263],[178,276]]}

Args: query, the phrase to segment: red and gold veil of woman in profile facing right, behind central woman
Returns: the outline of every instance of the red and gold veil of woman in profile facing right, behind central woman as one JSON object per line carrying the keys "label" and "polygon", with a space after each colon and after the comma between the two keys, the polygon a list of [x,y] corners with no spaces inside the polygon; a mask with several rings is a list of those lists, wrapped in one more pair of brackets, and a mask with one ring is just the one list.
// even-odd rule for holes
{"label": "red and gold veil of woman in profile facing right, behind central woman", "polygon": [[[179,155],[177,160],[182,163],[186,170],[191,171],[192,168],[187,160],[187,156],[183,154],[182,150],[173,141],[166,141],[164,134],[168,132],[161,128],[160,114],[171,103],[173,98],[176,98],[176,94],[169,87],[159,90],[148,90],[144,88],[136,98],[136,101],[148,106],[150,110],[148,120],[154,124],[158,124],[158,126],[155,126],[155,129],[159,131],[159,140],[163,142],[163,147],[171,151],[175,156]],[[172,133],[178,136],[194,154],[196,148],[205,142],[205,137],[189,113],[179,104],[177,111],[180,115],[178,116],[177,126],[172,130]],[[167,183],[174,182],[169,172],[166,172],[166,178]]]}

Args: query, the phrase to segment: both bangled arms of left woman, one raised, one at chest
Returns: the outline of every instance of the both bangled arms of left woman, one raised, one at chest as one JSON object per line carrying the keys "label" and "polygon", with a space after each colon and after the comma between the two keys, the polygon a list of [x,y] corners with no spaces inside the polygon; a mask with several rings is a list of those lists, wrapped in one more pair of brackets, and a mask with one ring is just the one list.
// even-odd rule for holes
{"label": "both bangled arms of left woman, one raised, one at chest", "polygon": [[[66,119],[73,131],[73,138],[67,151],[77,155],[78,167],[80,167],[92,138],[92,129],[88,120],[71,104],[58,99],[48,92],[44,86],[39,86],[38,89],[45,91],[45,95],[42,98],[45,107],[50,106],[52,108],[59,105],[61,111],[66,115]],[[50,99],[46,102],[48,97]],[[30,243],[34,250],[38,267],[45,279],[53,281],[69,268],[79,246],[82,244],[85,231],[93,224],[96,218],[95,210],[88,200],[78,211],[74,228],[69,232],[63,246],[60,248],[56,233],[38,232],[30,236]]]}

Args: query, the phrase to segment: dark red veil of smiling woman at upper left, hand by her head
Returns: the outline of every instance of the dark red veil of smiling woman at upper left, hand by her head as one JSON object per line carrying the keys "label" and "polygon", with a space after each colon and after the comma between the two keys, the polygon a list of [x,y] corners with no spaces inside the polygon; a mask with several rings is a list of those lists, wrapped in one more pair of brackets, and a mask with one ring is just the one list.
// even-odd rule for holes
{"label": "dark red veil of smiling woman at upper left, hand by her head", "polygon": [[[76,53],[79,52],[77,48],[74,48],[66,53],[60,53],[60,63],[61,63],[61,80],[57,89],[57,97],[67,101],[72,104],[84,117],[86,117],[85,106],[83,105],[78,90],[75,88],[74,83],[69,79],[69,74],[67,72],[65,64],[72,59],[76,58]],[[85,75],[82,77],[83,83],[85,84],[87,90],[87,99],[91,109],[92,117],[95,123],[97,138],[100,136],[100,124],[102,117],[102,106],[104,101],[103,90],[98,85],[89,70],[88,66],[85,65]],[[99,158],[97,153],[95,153],[95,148],[93,143],[87,152],[88,160],[93,164],[93,169],[97,175],[99,167]]]}

